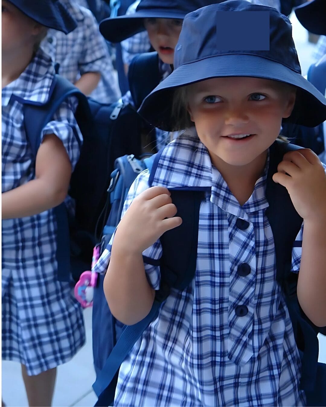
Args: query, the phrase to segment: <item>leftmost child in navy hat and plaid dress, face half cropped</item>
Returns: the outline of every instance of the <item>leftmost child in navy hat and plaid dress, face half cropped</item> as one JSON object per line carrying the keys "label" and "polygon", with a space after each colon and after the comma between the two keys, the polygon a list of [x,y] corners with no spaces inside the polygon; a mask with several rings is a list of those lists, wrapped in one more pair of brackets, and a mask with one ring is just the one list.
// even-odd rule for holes
{"label": "leftmost child in navy hat and plaid dress, face half cropped", "polygon": [[31,406],[51,405],[56,367],[85,343],[81,307],[57,279],[53,214],[79,158],[77,101],[67,98],[42,129],[36,161],[24,129],[24,106],[53,91],[42,37],[75,27],[59,0],[2,0],[2,359],[21,363]]}

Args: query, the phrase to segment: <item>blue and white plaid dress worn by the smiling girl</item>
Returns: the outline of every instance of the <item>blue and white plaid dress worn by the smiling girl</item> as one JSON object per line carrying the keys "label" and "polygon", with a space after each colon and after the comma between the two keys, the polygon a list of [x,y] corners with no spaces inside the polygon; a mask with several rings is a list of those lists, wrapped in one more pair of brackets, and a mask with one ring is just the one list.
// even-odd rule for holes
{"label": "blue and white plaid dress worn by the smiling girl", "polygon": [[[197,136],[184,134],[163,150],[153,186],[211,188],[200,205],[196,275],[184,291],[172,289],[123,361],[115,406],[305,405],[300,357],[275,280],[273,234],[265,216],[268,166],[269,158],[240,206]],[[148,178],[148,170],[137,177],[123,213],[148,188]],[[108,267],[111,244],[96,271]],[[159,259],[160,241],[143,254]],[[293,248],[292,257],[297,273],[301,247]],[[159,267],[145,264],[145,271],[159,289]]]}

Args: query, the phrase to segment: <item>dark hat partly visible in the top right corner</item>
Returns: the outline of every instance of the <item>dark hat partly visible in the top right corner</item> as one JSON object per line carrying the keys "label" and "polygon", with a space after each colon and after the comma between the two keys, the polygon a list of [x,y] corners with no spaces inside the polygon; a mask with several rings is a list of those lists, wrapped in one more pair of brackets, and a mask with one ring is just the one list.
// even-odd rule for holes
{"label": "dark hat partly visible in the top right corner", "polygon": [[313,34],[326,35],[326,0],[311,0],[294,9],[300,23]]}

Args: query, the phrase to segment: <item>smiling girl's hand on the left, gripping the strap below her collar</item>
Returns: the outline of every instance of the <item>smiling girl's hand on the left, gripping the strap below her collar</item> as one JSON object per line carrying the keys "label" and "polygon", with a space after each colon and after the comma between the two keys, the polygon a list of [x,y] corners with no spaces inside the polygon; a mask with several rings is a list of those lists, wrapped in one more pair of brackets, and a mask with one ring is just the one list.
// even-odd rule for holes
{"label": "smiling girl's hand on the left, gripping the strap below her collar", "polygon": [[176,212],[167,188],[148,188],[132,201],[122,217],[113,240],[114,247],[141,254],[164,232],[181,225],[182,219],[174,217]]}

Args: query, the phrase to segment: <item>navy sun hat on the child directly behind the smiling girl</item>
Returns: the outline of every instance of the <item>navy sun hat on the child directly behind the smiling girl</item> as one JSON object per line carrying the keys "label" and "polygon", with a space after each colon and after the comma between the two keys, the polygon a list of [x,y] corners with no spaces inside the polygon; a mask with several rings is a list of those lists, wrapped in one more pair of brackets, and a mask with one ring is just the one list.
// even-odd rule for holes
{"label": "navy sun hat on the child directly behind the smiling girl", "polygon": [[106,18],[99,25],[99,31],[108,41],[121,42],[145,30],[144,18],[183,20],[191,11],[217,2],[217,0],[141,0],[135,13]]}

